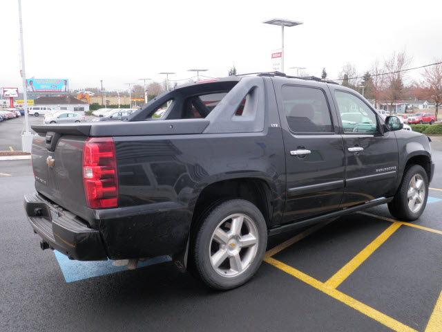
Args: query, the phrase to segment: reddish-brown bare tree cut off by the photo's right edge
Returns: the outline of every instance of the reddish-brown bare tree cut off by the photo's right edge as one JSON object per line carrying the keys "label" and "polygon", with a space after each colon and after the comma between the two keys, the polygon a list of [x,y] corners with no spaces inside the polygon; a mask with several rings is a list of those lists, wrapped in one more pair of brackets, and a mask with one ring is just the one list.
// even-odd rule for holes
{"label": "reddish-brown bare tree cut off by the photo's right edge", "polygon": [[[433,62],[442,62],[442,59]],[[439,106],[442,104],[442,64],[425,67],[421,75],[423,81],[416,83],[414,95],[421,100],[432,100],[436,104],[434,113],[437,119]]]}

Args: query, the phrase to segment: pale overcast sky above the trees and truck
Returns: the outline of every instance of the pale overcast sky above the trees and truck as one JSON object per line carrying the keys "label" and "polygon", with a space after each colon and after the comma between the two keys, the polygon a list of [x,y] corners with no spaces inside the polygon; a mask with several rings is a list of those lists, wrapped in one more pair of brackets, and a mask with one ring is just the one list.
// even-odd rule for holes
{"label": "pale overcast sky above the trees and truck", "polygon": [[[21,0],[26,76],[67,78],[70,89],[126,89],[140,78],[171,80],[207,68],[211,77],[271,71],[281,28],[274,17],[302,21],[285,28],[285,72],[307,67],[330,79],[354,64],[367,71],[404,48],[411,66],[442,57],[442,1],[153,1]],[[0,86],[23,89],[17,0],[1,0]],[[419,71],[412,75],[419,77]],[[204,73],[203,73],[204,75]]]}

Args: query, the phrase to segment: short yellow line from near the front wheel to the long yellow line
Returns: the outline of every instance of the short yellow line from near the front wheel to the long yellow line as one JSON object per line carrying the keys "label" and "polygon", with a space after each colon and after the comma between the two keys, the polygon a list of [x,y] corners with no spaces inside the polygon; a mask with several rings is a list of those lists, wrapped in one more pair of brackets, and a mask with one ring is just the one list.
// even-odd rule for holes
{"label": "short yellow line from near the front wheel to the long yellow line", "polygon": [[370,243],[368,246],[366,246],[364,248],[364,250],[359,252],[358,255],[356,255],[351,261],[349,261],[347,264],[345,264],[345,266],[343,268],[338,270],[338,272],[335,273],[335,275],[333,277],[328,279],[327,282],[325,282],[325,286],[329,286],[331,288],[338,287],[345,279],[347,279],[347,277],[349,277],[349,275],[351,275],[354,272],[354,270],[356,270],[356,268],[358,268],[361,264],[363,264],[365,259],[370,257],[370,255],[372,255],[372,253],[377,248],[379,248],[382,245],[382,243],[387,241],[387,239],[394,232],[396,232],[396,230],[399,227],[401,227],[401,223],[399,223],[399,222],[396,222],[396,223],[393,223],[392,225],[390,225],[390,227],[387,228],[386,230],[384,230],[381,235],[376,237],[376,239],[374,239],[374,241],[372,241],[372,243]]}

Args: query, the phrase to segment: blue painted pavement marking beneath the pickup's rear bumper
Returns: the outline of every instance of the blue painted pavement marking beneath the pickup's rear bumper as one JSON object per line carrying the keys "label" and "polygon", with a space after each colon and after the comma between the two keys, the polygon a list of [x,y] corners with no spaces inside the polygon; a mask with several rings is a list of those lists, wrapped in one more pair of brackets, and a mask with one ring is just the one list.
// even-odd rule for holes
{"label": "blue painted pavement marking beneath the pickup's rear bumper", "polygon": [[[75,261],[69,259],[61,252],[54,250],[55,257],[63,273],[66,282],[77,282],[78,280],[98,277],[99,275],[108,275],[127,270],[126,265],[118,266],[113,264],[118,261],[109,259],[107,261]],[[137,268],[144,268],[155,264],[172,261],[170,256],[159,256],[146,261],[139,261]]]}

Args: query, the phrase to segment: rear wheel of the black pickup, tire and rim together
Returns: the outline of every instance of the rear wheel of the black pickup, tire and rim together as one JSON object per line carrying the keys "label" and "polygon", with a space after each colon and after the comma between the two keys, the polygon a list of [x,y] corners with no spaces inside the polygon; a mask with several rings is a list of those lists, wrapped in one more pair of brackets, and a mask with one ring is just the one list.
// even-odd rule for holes
{"label": "rear wheel of the black pickup, tire and rim together", "polygon": [[[234,230],[234,225],[242,226]],[[260,210],[249,201],[231,199],[215,205],[202,215],[195,232],[193,266],[209,287],[220,291],[236,288],[248,282],[260,267],[267,246],[267,225]]]}

